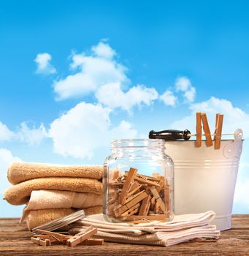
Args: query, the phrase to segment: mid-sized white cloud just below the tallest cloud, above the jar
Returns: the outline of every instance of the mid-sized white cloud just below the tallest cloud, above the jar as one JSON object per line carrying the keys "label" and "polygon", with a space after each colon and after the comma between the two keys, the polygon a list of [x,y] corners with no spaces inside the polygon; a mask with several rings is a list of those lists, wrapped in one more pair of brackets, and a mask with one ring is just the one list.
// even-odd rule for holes
{"label": "mid-sized white cloud just below the tallest cloud, above the jar", "polygon": [[123,92],[120,83],[107,83],[96,91],[96,98],[101,104],[109,108],[123,108],[131,110],[134,105],[151,105],[158,98],[154,88],[137,85]]}

